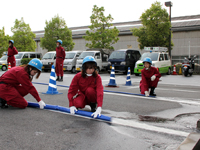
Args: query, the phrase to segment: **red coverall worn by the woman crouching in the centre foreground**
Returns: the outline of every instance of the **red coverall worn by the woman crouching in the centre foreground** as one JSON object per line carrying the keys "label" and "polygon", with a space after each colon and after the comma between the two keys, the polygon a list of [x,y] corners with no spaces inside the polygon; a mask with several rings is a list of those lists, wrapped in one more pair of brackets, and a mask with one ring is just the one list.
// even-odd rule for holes
{"label": "red coverall worn by the woman crouching in the centre foreground", "polygon": [[[78,93],[76,98],[73,98]],[[103,85],[100,75],[97,77],[81,76],[81,72],[76,74],[68,90],[69,107],[84,108],[85,105],[97,103],[97,107],[103,105]]]}

